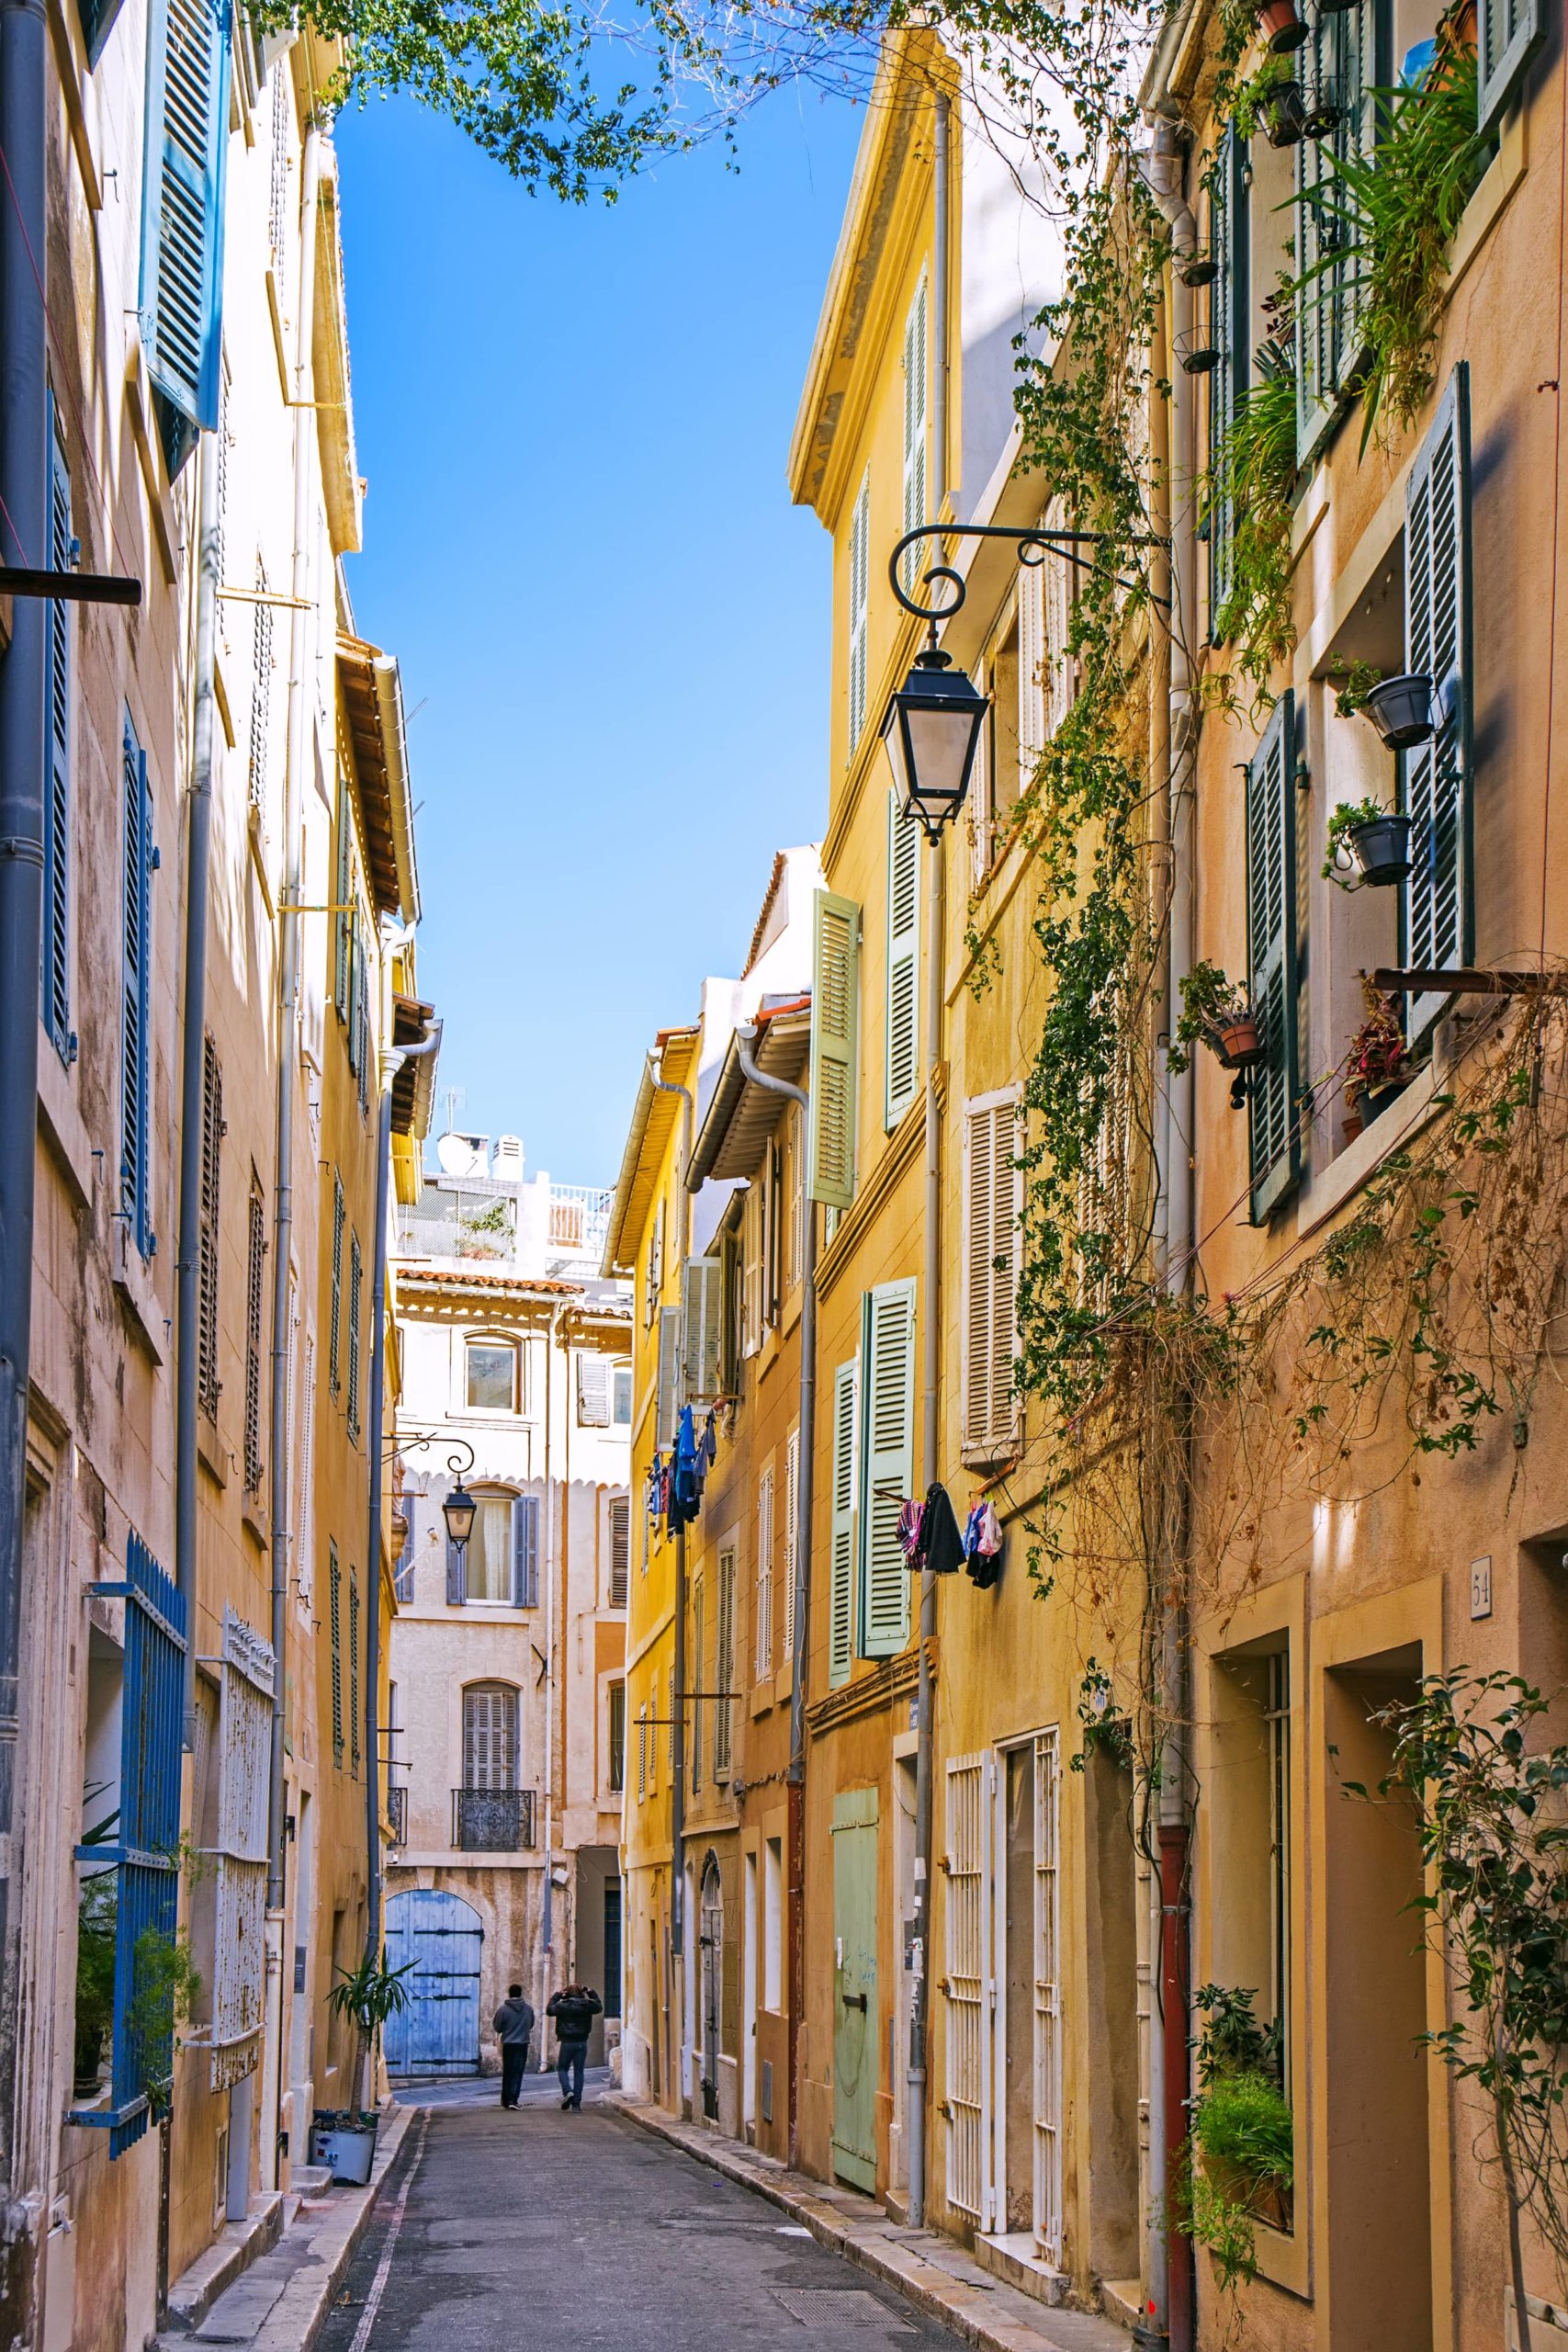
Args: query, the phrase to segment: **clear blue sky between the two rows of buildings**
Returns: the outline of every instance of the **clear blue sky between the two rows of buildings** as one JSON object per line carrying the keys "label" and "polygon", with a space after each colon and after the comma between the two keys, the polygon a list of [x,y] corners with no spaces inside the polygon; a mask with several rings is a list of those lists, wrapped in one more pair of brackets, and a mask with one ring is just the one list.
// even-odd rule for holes
{"label": "clear blue sky between the two rows of buildings", "polygon": [[411,103],[339,125],[362,635],[400,656],[440,1124],[614,1183],[642,1054],[820,833],[827,536],[785,454],[860,115],[529,198]]}

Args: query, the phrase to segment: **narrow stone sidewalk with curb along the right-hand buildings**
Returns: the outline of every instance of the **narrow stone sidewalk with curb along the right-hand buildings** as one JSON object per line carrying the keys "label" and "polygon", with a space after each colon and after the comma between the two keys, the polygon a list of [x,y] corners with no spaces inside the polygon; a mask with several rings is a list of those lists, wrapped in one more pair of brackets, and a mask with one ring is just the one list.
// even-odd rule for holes
{"label": "narrow stone sidewalk with curb along the right-hand buildings", "polygon": [[950,2326],[964,2343],[980,2345],[983,2352],[1128,2352],[1131,2338],[1114,2321],[1091,2312],[1051,2310],[1016,2286],[1004,2286],[940,2230],[905,2230],[856,2190],[792,2173],[776,2157],[762,2157],[755,2147],[724,2140],[698,2124],[677,2124],[663,2107],[644,2105],[623,2091],[604,2093],[599,2105],[670,2140],[726,2180],[766,2197],[802,2223],[820,2246],[898,2288],[919,2312]]}

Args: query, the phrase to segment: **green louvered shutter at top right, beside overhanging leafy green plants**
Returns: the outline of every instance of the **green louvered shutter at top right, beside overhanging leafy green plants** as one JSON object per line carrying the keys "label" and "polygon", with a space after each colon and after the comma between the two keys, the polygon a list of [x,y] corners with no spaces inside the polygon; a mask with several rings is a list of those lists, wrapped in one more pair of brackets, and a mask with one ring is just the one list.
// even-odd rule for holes
{"label": "green louvered shutter at top right, beside overhanging leafy green plants", "polygon": [[1359,292],[1363,259],[1349,249],[1335,162],[1361,158],[1375,136],[1368,96],[1385,73],[1373,56],[1378,0],[1356,0],[1316,16],[1307,49],[1312,89],[1338,108],[1326,139],[1295,148],[1295,461],[1307,466],[1340,409],[1340,393],[1361,355]]}

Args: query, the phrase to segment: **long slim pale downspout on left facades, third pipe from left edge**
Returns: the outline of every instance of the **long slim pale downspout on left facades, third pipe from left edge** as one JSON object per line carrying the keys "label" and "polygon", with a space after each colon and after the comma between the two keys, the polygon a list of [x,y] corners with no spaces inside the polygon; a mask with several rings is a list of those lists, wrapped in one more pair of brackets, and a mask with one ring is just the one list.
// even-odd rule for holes
{"label": "long slim pale downspout on left facades, third pipe from left edge", "polygon": [[[306,771],[310,656],[310,336],[315,327],[315,230],[322,181],[322,134],[306,129],[301,165],[299,327],[294,336],[294,567],[289,593],[289,760],[282,795],[282,906],[277,920],[277,1141],[273,1209],[273,1771],[268,1788],[266,1879],[266,2082],[261,2187],[275,2190],[282,2129],[282,1910],[284,1910],[284,1644],[289,1632],[289,1251],[294,1247],[294,1091],[299,1087],[299,835]],[[270,2124],[268,2124],[270,2119]]]}

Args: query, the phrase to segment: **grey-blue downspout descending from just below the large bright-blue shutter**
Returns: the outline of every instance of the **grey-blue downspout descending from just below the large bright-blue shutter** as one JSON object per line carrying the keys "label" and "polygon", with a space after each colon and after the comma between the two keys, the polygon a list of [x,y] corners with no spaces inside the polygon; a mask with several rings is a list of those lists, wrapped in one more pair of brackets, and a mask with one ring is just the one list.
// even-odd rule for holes
{"label": "grey-blue downspout descending from just below the large bright-blue shutter", "polygon": [[186,1602],[183,1738],[195,1750],[195,1449],[197,1315],[202,1298],[202,1143],[207,1058],[207,887],[212,870],[212,715],[219,616],[219,435],[202,433],[200,555],[195,579],[195,724],[186,821],[186,990],[181,1007],[179,1258],[174,1265],[174,1583]]}

